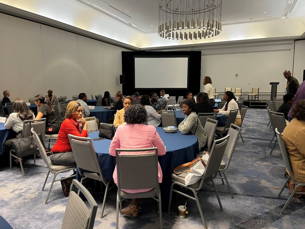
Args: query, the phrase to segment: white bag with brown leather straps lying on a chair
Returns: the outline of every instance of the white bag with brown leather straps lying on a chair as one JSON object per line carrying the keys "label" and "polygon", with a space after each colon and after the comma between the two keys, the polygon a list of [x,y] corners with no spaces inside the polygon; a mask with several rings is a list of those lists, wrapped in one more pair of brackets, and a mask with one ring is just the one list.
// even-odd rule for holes
{"label": "white bag with brown leather straps lying on a chair", "polygon": [[[202,175],[206,169],[206,163],[208,162],[209,157],[210,157],[210,154],[208,152],[205,152],[202,155],[200,155],[199,157],[197,157],[196,159],[194,159],[192,162],[189,162],[189,163],[186,163],[183,165],[179,165],[177,168],[174,169],[174,173],[179,175],[181,173],[188,172],[184,178],[185,185],[188,186],[191,184],[195,184],[198,180],[200,180],[202,178]],[[181,169],[186,166],[188,168],[187,170],[184,170],[179,173],[176,172],[178,169]]]}

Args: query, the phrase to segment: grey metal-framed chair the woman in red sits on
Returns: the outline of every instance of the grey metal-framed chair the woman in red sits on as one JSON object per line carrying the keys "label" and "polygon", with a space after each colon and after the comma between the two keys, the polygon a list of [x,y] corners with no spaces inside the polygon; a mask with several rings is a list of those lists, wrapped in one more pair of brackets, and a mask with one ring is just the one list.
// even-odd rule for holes
{"label": "grey metal-framed chair the woman in red sits on", "polygon": [[53,177],[53,180],[52,180],[52,183],[51,183],[51,187],[50,187],[49,192],[48,192],[48,196],[47,196],[47,198],[45,200],[45,204],[47,204],[54,182],[55,181],[59,181],[59,180],[64,180],[64,179],[67,179],[67,178],[72,178],[72,177],[75,177],[76,175],[62,177],[62,178],[57,179],[57,180],[56,180],[56,176],[58,174],[66,173],[66,172],[71,171],[71,170],[73,170],[75,172],[76,168],[75,168],[75,165],[53,165],[52,162],[50,160],[48,160],[48,156],[47,156],[47,154],[45,152],[45,147],[42,145],[42,143],[41,143],[37,133],[35,132],[34,128],[31,129],[31,132],[33,134],[33,138],[34,138],[35,143],[37,144],[39,152],[40,152],[40,154],[42,156],[42,159],[46,163],[46,165],[48,167],[48,170],[49,170],[48,174],[47,174],[47,176],[45,178],[45,183],[43,184],[41,191],[45,190],[45,184],[47,183],[49,174],[50,173],[54,174],[54,177]]}

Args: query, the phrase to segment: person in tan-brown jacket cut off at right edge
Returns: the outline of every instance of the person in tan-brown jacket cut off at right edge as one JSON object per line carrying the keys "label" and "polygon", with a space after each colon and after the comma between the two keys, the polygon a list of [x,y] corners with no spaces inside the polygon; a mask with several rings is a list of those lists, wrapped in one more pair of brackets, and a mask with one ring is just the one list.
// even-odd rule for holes
{"label": "person in tan-brown jacket cut off at right edge", "polygon": [[294,118],[281,135],[289,154],[293,178],[305,183],[305,100],[299,100],[291,112]]}

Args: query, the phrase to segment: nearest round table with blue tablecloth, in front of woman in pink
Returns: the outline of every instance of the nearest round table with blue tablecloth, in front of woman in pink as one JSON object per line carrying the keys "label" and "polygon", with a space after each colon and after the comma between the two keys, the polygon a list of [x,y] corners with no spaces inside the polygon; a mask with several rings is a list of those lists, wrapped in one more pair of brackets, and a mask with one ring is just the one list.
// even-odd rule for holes
{"label": "nearest round table with blue tablecloth, in front of woman in pink", "polygon": [[[171,186],[171,174],[174,172],[174,168],[178,165],[191,162],[196,158],[199,153],[198,140],[195,135],[182,135],[180,131],[175,133],[165,133],[163,127],[156,127],[160,138],[164,145],[167,147],[166,154],[158,157],[160,163],[163,178],[160,184],[160,191],[162,195],[162,209],[167,210],[170,186]],[[99,137],[99,132],[89,134],[89,137],[94,139]],[[93,141],[93,146],[97,154],[99,164],[102,169],[103,176],[108,180],[113,180],[113,171],[116,166],[116,158],[110,156],[109,147],[111,140],[99,140]],[[78,173],[76,179],[81,180]]]}

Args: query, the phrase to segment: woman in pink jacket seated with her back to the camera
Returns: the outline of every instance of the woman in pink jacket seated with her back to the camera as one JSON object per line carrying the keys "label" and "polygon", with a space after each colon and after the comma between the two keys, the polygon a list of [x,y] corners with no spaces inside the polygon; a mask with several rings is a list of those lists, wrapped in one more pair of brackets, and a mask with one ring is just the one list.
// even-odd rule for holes
{"label": "woman in pink jacket seated with her back to the camera", "polygon": [[[145,108],[140,104],[131,105],[124,113],[124,120],[127,125],[121,125],[117,128],[109,148],[109,154],[111,156],[116,155],[115,149],[136,149],[136,148],[149,148],[157,147],[158,155],[164,155],[166,153],[165,146],[161,140],[156,128],[152,125],[145,125],[143,122],[147,120],[147,113]],[[135,137],[134,133],[137,133]],[[122,152],[123,154],[124,152]],[[130,154],[131,152],[128,152]],[[137,154],[145,152],[135,152]],[[158,163],[159,170],[159,183],[162,183],[162,170]],[[113,172],[113,180],[117,184],[117,167]],[[124,189],[127,193],[139,193],[147,192],[151,188],[146,189]],[[138,202],[139,199],[132,199],[131,203],[124,209],[121,210],[122,214],[132,216],[138,216]]]}

